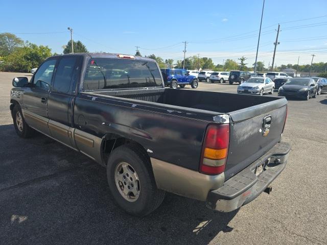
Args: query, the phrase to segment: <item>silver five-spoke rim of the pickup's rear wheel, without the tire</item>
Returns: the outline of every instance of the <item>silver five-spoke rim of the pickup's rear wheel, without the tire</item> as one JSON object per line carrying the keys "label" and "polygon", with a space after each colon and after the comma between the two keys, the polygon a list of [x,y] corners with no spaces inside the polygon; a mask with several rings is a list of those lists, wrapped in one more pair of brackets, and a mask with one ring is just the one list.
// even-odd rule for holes
{"label": "silver five-spoke rim of the pickup's rear wheel, without the tire", "polygon": [[114,181],[119,193],[129,202],[135,202],[141,192],[141,185],[136,171],[126,162],[117,164],[114,171]]}

